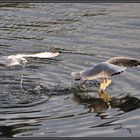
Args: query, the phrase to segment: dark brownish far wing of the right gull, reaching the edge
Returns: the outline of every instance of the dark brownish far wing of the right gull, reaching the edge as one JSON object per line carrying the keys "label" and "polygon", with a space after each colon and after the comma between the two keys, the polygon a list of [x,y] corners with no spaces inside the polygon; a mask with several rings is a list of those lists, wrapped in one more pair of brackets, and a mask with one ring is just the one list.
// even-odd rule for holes
{"label": "dark brownish far wing of the right gull, reaching the edge", "polygon": [[133,67],[140,65],[139,59],[129,58],[129,57],[113,57],[107,61],[110,64],[124,66],[124,67]]}

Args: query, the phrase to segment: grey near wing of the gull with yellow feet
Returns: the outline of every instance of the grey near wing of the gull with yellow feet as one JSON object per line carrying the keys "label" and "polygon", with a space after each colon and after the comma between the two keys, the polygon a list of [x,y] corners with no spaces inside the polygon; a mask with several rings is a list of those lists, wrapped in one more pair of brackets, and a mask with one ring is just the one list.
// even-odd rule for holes
{"label": "grey near wing of the gull with yellow feet", "polygon": [[113,65],[107,62],[99,63],[87,70],[80,72],[81,77],[86,80],[93,80],[97,78],[109,78],[110,76],[120,74],[126,68]]}

